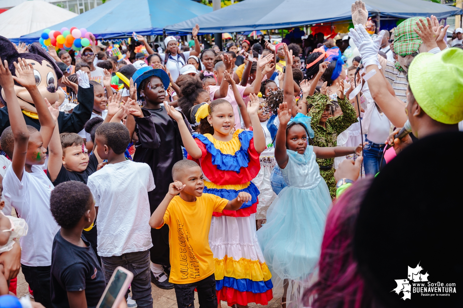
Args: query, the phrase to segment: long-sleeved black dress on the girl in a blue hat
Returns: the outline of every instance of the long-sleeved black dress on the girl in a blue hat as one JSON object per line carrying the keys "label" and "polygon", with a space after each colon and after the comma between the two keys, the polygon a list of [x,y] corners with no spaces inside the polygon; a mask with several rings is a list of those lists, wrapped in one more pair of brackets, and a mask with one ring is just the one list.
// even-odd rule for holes
{"label": "long-sleeved black dress on the girl in a blue hat", "polygon": [[[144,118],[135,118],[135,131],[138,141],[135,144],[134,162],[147,163],[153,172],[156,188],[148,192],[151,214],[169,192],[172,183],[172,167],[183,159],[180,131],[178,123],[165,110],[142,109]],[[188,121],[185,124],[189,126]],[[150,258],[153,263],[170,266],[169,263],[169,227],[165,224],[161,229],[151,229],[153,247]]]}

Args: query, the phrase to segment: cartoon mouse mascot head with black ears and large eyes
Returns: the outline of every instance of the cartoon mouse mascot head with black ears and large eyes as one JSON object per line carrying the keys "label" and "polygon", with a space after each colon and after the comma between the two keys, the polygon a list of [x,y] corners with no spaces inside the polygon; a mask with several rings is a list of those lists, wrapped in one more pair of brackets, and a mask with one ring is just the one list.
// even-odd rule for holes
{"label": "cartoon mouse mascot head with black ears and large eyes", "polygon": [[[8,61],[8,68],[10,69],[13,76],[18,76],[16,74],[16,68],[13,65],[13,62],[18,62],[18,58],[24,58],[27,63],[31,63],[34,67],[35,82],[38,88],[38,91],[42,97],[48,99],[50,104],[54,103],[63,103],[64,101],[64,92],[58,90],[58,79],[63,77],[63,73],[58,68],[50,55],[40,46],[39,43],[33,43],[29,46],[28,53],[18,53],[13,43],[10,42],[7,38],[0,36],[0,58],[1,60]],[[5,106],[7,105],[5,101],[5,93],[1,89],[0,102]],[[19,104],[21,109],[25,109],[25,103],[29,103],[34,106],[32,102],[31,95],[26,90],[25,87],[19,85],[16,81],[14,82],[14,91],[18,97]],[[37,114],[34,112],[23,111],[27,116],[37,119]]]}

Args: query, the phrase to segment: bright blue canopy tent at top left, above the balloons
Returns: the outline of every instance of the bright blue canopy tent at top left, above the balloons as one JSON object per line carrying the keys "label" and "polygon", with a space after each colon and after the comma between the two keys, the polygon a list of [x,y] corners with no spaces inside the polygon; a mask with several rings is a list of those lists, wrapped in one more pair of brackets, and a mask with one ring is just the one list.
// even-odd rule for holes
{"label": "bright blue canopy tent at top left, above the balloons", "polygon": [[[163,34],[163,28],[172,22],[194,18],[212,12],[212,7],[191,0],[111,0],[75,18],[48,27],[86,28],[97,39]],[[191,29],[190,29],[191,31]],[[20,42],[38,42],[43,30],[19,38]]]}

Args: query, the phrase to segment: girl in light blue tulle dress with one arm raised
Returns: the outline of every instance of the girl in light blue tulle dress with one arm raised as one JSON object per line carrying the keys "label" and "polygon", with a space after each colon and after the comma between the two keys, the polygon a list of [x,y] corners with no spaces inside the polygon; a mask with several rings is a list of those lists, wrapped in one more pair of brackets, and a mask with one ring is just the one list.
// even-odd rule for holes
{"label": "girl in light blue tulle dress with one arm raised", "polygon": [[[272,280],[285,281],[282,302],[297,305],[295,293],[302,293],[318,262],[331,205],[330,192],[315,158],[331,158],[360,153],[357,147],[317,147],[308,145],[313,138],[310,117],[298,113],[293,119],[287,103],[278,109],[280,121],[275,140],[275,159],[283,174],[283,188],[267,211],[267,223],[257,231]],[[274,284],[275,285],[275,284]],[[292,286],[292,292],[286,289]],[[296,290],[297,289],[297,290]],[[288,307],[289,307],[288,306]]]}

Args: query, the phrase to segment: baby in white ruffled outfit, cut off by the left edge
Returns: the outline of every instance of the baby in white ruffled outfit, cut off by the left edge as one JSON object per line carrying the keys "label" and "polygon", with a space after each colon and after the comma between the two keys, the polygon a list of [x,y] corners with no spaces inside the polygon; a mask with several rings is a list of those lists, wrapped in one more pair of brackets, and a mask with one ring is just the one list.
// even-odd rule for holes
{"label": "baby in white ruffled outfit, cut off by the left edge", "polygon": [[[0,197],[3,186],[0,175]],[[5,207],[5,201],[0,201],[0,255],[13,249],[14,239],[27,235],[27,223],[23,218],[5,215],[1,210]],[[8,281],[7,281],[8,280]],[[0,295],[8,294],[9,279],[5,277],[3,264],[0,264]]]}

